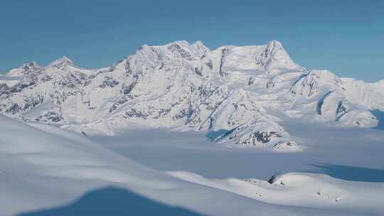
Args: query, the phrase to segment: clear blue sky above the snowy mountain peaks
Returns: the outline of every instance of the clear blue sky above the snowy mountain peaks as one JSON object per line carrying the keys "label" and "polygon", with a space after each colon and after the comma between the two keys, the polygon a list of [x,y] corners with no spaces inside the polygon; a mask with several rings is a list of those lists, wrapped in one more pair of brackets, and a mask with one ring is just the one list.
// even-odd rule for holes
{"label": "clear blue sky above the snowy mountain peaks", "polygon": [[101,68],[143,44],[281,41],[296,63],[384,79],[384,1],[0,1],[0,71],[63,55]]}

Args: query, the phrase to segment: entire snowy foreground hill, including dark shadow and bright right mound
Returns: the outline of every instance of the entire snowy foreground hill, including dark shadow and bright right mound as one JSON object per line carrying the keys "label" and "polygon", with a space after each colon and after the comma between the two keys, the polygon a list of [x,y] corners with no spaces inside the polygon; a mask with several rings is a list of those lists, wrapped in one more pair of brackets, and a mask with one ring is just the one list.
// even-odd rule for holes
{"label": "entire snowy foreground hill, including dark shadow and bright right mound", "polygon": [[[383,183],[160,172],[46,124],[0,116],[1,215],[383,215]],[[291,206],[288,206],[291,205]],[[355,212],[355,213],[352,213]]]}

